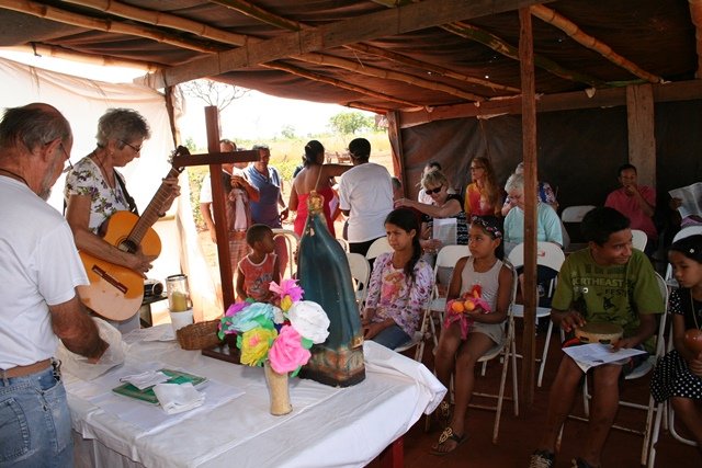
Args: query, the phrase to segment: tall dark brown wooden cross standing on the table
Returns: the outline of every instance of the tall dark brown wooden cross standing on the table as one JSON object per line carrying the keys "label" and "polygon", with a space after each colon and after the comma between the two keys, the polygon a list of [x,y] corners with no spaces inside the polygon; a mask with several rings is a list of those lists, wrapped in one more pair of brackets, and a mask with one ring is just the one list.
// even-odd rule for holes
{"label": "tall dark brown wooden cross standing on the table", "polygon": [[219,278],[222,281],[222,299],[226,310],[235,300],[231,260],[229,256],[229,232],[227,231],[226,213],[224,206],[224,187],[222,185],[222,164],[227,162],[249,162],[260,159],[258,150],[220,152],[219,151],[219,111],[216,106],[205,107],[205,125],[207,128],[207,151],[203,155],[177,156],[173,165],[185,168],[190,165],[210,164],[210,183],[212,184],[212,206],[215,218],[215,233],[217,235],[217,258],[219,260]]}

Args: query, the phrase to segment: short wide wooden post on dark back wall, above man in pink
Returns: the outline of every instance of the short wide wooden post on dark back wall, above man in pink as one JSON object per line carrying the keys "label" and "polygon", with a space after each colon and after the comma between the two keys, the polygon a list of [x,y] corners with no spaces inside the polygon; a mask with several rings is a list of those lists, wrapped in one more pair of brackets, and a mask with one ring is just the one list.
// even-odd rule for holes
{"label": "short wide wooden post on dark back wall, above man in pink", "polygon": [[636,167],[638,183],[656,186],[654,93],[650,84],[626,87],[629,162]]}

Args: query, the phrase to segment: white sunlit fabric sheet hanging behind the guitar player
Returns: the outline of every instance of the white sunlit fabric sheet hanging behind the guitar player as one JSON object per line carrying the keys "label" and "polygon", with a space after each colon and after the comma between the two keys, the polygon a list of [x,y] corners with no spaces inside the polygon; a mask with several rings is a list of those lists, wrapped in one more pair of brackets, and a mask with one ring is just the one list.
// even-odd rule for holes
{"label": "white sunlit fabric sheet hanging behind the guitar player", "polygon": [[[80,65],[76,65],[80,67]],[[0,58],[0,106],[14,107],[31,102],[45,102],[58,109],[70,122],[73,130],[71,161],[76,162],[95,148],[98,119],[110,107],[128,107],[138,111],[151,128],[151,138],[145,141],[140,158],[135,159],[120,171],[125,175],[127,190],[144,210],[168,173],[168,157],[173,149],[166,100],[150,88],[135,84],[113,84],[95,80],[77,78],[55,71],[19,64]],[[61,175],[54,186],[49,204],[63,212],[65,176]],[[165,281],[166,276],[181,272],[181,264],[189,274],[190,287],[196,319],[203,316],[216,317],[222,306],[216,305],[216,294],[207,272],[207,266],[199,248],[188,248],[195,242],[194,221],[189,209],[190,191],[186,172],[181,174],[181,196],[173,204],[171,213],[156,224],[163,248],[161,255],[154,262],[149,277]],[[180,213],[186,216],[180,217]],[[182,218],[182,219],[181,219]],[[178,224],[182,229],[177,228]],[[184,236],[183,232],[190,232]],[[190,238],[186,241],[185,238]],[[194,239],[194,240],[192,240]],[[181,253],[183,258],[181,258]],[[200,258],[197,258],[200,256]],[[204,284],[200,284],[203,282]],[[197,292],[197,294],[195,294]],[[165,312],[165,301],[152,306],[155,313]]]}

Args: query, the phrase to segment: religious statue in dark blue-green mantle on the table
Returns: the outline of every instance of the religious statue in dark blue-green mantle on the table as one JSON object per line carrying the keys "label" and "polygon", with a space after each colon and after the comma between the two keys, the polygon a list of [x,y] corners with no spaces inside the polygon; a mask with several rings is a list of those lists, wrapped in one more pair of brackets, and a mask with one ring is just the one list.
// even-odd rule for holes
{"label": "religious statue in dark blue-green mantle on the table", "polygon": [[297,277],[305,300],[314,300],[327,312],[329,336],[313,346],[312,358],[299,375],[325,385],[348,387],[365,378],[363,333],[349,261],[327,228],[324,203],[315,192],[307,198]]}

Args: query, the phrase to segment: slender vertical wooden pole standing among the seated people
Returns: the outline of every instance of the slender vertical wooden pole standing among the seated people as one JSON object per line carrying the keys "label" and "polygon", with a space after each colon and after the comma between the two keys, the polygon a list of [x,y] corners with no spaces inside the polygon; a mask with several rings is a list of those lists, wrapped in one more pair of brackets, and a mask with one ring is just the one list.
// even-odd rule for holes
{"label": "slender vertical wooden pole standing among the seated people", "polygon": [[536,355],[536,99],[531,13],[519,10],[519,64],[522,84],[522,152],[524,161],[524,332],[522,336],[521,398],[534,402]]}

